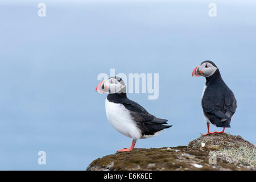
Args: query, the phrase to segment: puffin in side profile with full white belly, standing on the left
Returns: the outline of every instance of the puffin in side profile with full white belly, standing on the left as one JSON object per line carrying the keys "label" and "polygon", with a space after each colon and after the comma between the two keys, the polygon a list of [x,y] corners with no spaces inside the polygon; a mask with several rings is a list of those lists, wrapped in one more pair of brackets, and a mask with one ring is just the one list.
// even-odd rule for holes
{"label": "puffin in side profile with full white belly, standing on the left", "polygon": [[126,86],[122,78],[110,77],[97,85],[98,93],[108,93],[105,100],[106,117],[110,124],[126,137],[133,138],[130,148],[123,148],[118,152],[134,150],[138,139],[155,137],[164,129],[171,127],[167,119],[156,118],[148,113],[137,102],[126,96]]}

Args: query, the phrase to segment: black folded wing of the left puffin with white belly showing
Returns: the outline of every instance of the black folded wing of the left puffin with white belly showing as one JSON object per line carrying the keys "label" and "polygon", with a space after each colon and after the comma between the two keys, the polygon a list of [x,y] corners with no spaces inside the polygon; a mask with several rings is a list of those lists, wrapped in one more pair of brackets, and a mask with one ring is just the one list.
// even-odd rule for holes
{"label": "black folded wing of the left puffin with white belly showing", "polygon": [[141,105],[128,98],[122,102],[123,106],[130,111],[131,117],[142,130],[142,135],[154,135],[157,131],[167,129],[167,119],[156,118],[154,115],[148,113]]}

